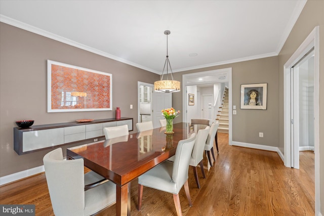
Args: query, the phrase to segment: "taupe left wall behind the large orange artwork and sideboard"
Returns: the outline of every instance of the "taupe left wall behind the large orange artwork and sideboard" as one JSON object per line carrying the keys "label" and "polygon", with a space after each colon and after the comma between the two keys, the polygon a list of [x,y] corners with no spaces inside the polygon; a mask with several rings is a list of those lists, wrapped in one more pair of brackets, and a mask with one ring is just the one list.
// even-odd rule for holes
{"label": "taupe left wall behind the large orange artwork and sideboard", "polygon": [[[159,75],[120,63],[56,40],[0,23],[0,176],[43,165],[50,150],[18,156],[13,149],[16,120],[34,125],[76,119],[121,117],[137,122],[137,81],[154,83]],[[112,111],[47,113],[47,59],[112,74]],[[133,109],[130,109],[133,104]],[[66,146],[71,147],[71,146]],[[65,152],[66,147],[63,148]]]}

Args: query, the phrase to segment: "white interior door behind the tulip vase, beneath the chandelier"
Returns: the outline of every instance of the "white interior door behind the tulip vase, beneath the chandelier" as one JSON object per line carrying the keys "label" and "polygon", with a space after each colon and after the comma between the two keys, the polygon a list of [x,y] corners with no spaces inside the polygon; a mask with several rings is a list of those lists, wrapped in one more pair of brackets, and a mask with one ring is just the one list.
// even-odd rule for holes
{"label": "white interior door behind the tulip vase, beneath the chandelier", "polygon": [[172,107],[172,93],[154,92],[152,94],[153,127],[160,127],[159,119],[164,118],[161,110]]}

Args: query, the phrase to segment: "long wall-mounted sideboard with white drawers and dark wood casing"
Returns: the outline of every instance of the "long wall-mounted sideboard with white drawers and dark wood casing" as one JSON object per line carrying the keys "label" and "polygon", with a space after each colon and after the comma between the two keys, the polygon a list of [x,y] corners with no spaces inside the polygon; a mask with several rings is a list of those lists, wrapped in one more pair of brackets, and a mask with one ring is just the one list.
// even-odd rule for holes
{"label": "long wall-mounted sideboard with white drawers and dark wood casing", "polygon": [[86,144],[104,140],[104,127],[128,125],[133,131],[133,118],[108,118],[91,122],[66,122],[35,125],[28,128],[14,127],[14,150],[22,155],[34,151],[73,143]]}

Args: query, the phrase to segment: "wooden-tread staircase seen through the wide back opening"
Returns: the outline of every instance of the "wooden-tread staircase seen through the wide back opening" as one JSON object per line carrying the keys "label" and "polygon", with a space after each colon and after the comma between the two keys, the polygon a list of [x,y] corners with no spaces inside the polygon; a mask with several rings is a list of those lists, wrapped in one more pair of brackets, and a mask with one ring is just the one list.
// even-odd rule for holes
{"label": "wooden-tread staircase seen through the wide back opening", "polygon": [[219,120],[217,132],[228,134],[228,88],[225,88],[222,106],[218,109],[216,120]]}

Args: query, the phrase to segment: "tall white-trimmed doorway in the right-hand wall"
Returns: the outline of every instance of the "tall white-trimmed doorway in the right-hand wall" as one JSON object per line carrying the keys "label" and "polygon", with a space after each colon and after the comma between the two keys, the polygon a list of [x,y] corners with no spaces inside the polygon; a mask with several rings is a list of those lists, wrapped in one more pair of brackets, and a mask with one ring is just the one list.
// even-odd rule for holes
{"label": "tall white-trimmed doorway in the right-hand wall", "polygon": [[[312,50],[313,49],[313,50]],[[306,63],[305,63],[306,62]],[[313,81],[305,81],[302,72],[313,67]],[[312,66],[310,66],[312,65]],[[307,75],[309,76],[309,75]],[[309,78],[309,77],[308,77]],[[303,83],[304,82],[304,83]],[[303,101],[303,97],[313,98]],[[319,27],[316,26],[307,36],[296,52],[284,65],[284,163],[287,167],[299,168],[299,141],[314,143],[315,172],[315,214],[319,212]],[[305,112],[307,104],[310,112]],[[311,106],[309,106],[311,105]],[[300,120],[303,121],[300,121]],[[300,129],[305,129],[307,136],[300,135]],[[313,127],[313,129],[312,129]],[[303,132],[305,133],[305,132]],[[305,148],[311,148],[306,146]]]}

